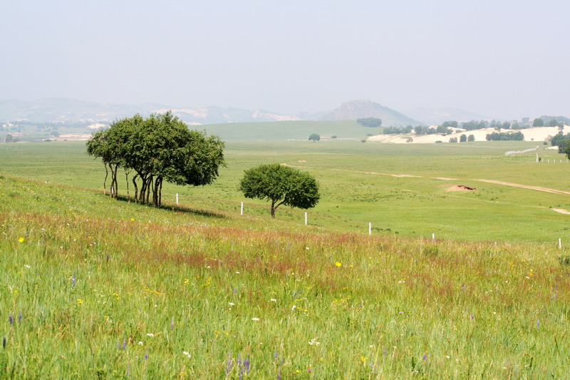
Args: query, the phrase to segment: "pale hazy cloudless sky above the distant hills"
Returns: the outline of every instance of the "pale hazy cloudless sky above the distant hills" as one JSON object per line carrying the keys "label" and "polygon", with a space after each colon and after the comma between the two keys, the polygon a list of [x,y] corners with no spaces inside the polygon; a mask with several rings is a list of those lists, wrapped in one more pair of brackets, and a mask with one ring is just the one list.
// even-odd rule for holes
{"label": "pale hazy cloudless sky above the distant hills", "polygon": [[570,117],[570,1],[1,1],[0,99]]}

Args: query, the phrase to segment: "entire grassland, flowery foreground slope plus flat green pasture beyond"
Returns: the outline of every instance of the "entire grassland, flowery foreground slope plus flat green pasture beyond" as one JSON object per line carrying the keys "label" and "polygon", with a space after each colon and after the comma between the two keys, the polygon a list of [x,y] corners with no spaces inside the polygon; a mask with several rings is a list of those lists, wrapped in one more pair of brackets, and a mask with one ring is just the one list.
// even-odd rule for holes
{"label": "entire grassland, flowery foreground slope plus flat green pasture beyond", "polygon": [[[532,146],[228,143],[217,183],[156,209],[105,197],[83,143],[0,145],[0,378],[564,378],[570,195],[477,181],[570,188],[503,155]],[[269,162],[318,178],[308,226],[239,215]]]}

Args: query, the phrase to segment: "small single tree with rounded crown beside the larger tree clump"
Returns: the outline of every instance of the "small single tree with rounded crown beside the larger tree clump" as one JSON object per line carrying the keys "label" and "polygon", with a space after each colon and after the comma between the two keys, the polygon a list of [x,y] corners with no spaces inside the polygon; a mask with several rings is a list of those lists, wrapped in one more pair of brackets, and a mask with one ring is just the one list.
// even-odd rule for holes
{"label": "small single tree with rounded crown beside the larger tree clump", "polygon": [[271,217],[281,205],[308,209],[321,197],[312,175],[276,163],[245,170],[239,190],[247,198],[271,201]]}

